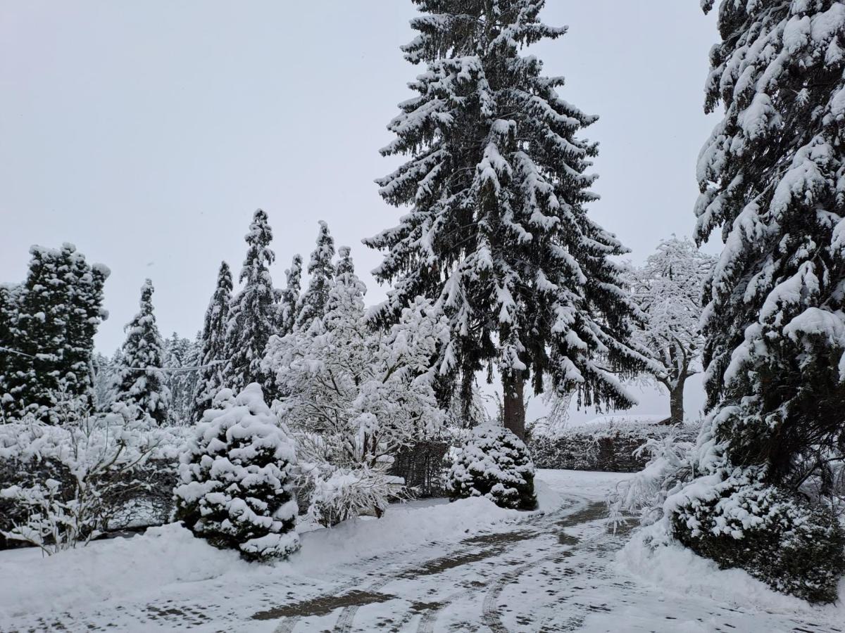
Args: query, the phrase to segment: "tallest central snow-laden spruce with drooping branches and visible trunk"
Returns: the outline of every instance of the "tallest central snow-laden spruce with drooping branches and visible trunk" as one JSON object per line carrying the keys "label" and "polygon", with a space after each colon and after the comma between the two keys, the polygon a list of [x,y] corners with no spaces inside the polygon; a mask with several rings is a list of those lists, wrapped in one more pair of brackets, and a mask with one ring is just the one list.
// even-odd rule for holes
{"label": "tallest central snow-laden spruce with drooping branches and visible trunk", "polygon": [[596,117],[520,54],[565,29],[542,24],[544,0],[413,2],[424,15],[402,50],[427,68],[381,150],[411,158],[378,181],[411,210],[364,241],[385,252],[376,278],[393,282],[374,319],[395,322],[417,295],[441,302],[452,333],[442,371],[468,394],[475,372],[497,365],[517,436],[529,378],[536,392],[548,374],[581,403],[629,407],[619,379],[647,361],[628,344],[636,307],[609,259],[626,251],[586,215],[597,146],[576,135]]}

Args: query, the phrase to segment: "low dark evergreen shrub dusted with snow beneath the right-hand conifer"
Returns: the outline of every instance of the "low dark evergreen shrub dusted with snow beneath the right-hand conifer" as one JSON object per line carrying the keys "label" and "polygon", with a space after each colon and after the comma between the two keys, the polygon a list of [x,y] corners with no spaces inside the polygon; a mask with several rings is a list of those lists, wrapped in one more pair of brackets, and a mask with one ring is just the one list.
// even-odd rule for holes
{"label": "low dark evergreen shrub dusted with snow beneath the right-hand conifer", "polygon": [[759,482],[728,479],[704,490],[700,495],[690,486],[668,500],[673,535],[681,543],[777,591],[811,603],[837,599],[845,533],[829,511]]}

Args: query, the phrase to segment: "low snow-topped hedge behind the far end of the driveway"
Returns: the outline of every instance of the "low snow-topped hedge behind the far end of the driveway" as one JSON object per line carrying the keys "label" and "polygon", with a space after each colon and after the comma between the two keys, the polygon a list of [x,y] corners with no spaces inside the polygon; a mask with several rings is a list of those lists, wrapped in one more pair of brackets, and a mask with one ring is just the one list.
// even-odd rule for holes
{"label": "low snow-topped hedge behind the far end of the driveway", "polygon": [[692,425],[660,425],[651,419],[599,419],[565,429],[558,436],[531,437],[528,448],[537,468],[635,473],[648,462],[648,456],[637,449],[670,433],[692,441],[697,430]]}

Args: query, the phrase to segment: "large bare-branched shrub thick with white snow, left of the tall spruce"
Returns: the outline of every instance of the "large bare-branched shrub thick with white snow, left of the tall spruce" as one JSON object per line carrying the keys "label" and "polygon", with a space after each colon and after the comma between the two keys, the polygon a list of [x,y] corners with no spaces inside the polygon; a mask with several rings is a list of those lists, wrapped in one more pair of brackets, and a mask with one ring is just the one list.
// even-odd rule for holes
{"label": "large bare-branched shrub thick with white snow, left of the tall spruce", "polygon": [[[349,249],[340,251],[324,303],[303,306],[313,316],[270,338],[262,365],[275,375],[274,407],[297,443],[297,487],[312,494],[308,512],[327,525],[362,508],[378,516],[400,496],[390,476],[395,456],[433,438],[444,420],[432,366],[447,334],[443,315],[417,300],[389,332],[373,331],[366,287]],[[315,252],[313,261],[325,257]]]}

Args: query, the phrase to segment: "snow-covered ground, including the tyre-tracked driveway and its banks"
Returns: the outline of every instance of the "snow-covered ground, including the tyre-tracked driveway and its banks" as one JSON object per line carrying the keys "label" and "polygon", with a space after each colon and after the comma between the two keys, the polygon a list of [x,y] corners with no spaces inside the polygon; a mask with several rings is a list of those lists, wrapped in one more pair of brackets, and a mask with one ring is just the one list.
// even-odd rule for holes
{"label": "snow-covered ground, including the tyre-tracked driveway and its banks", "polygon": [[176,525],[49,558],[0,552],[0,630],[845,630],[842,606],[810,607],[684,549],[624,546],[602,499],[628,476],[541,471],[532,514],[486,500],[391,506],[305,531],[277,565]]}

